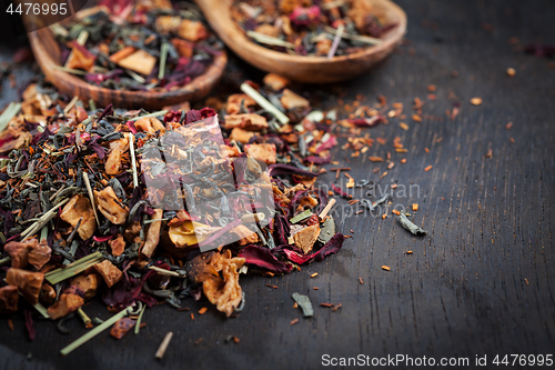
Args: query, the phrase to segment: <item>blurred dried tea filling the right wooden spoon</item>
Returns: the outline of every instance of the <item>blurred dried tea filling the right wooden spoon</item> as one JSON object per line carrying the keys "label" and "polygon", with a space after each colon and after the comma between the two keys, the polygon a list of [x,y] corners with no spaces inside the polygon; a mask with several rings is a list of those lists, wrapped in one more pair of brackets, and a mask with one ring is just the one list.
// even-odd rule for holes
{"label": "blurred dried tea filling the right wooden spoon", "polygon": [[366,0],[235,0],[232,17],[259,44],[299,56],[345,56],[396,24]]}

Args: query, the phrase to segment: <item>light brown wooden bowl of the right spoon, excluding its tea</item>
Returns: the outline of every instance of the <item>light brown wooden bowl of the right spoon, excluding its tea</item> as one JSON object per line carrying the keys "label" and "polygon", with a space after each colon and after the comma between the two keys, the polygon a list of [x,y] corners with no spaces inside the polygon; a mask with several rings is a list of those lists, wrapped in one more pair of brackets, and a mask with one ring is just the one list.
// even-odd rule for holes
{"label": "light brown wooden bowl of the right spoon, excluding its tea", "polygon": [[195,0],[220,39],[246,62],[266,72],[309,83],[352,79],[391,54],[406,32],[406,14],[389,0],[366,0],[383,12],[387,23],[397,26],[384,34],[383,42],[347,56],[301,57],[261,47],[249,39],[231,18],[231,0]]}

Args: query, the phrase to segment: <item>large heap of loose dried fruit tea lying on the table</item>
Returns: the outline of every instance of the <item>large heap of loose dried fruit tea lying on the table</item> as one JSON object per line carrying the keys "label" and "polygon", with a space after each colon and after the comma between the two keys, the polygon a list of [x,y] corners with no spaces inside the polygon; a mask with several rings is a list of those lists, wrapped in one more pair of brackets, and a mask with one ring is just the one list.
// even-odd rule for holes
{"label": "large heap of loose dried fruit tea lying on the table", "polygon": [[275,81],[272,94],[243,84],[221,127],[210,108],[88,111],[29,86],[0,117],[0,313],[77,311],[90,328],[83,304],[102,292],[119,313],[90,336],[113,326],[121,338],[159,301],[180,309],[204,296],[229,317],[245,302],[240,273],[287,273],[336,253],[334,200],[303,164],[335,138],[302,121],[306,99]]}

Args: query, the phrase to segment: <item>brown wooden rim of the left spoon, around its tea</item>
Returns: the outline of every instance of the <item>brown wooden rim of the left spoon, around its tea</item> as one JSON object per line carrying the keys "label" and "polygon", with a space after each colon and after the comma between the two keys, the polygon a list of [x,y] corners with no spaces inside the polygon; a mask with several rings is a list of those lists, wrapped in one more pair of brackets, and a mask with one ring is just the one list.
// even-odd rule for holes
{"label": "brown wooden rim of the left spoon, around its tea", "polygon": [[60,47],[49,28],[30,32],[29,41],[37,62],[50,82],[62,93],[79,96],[85,101],[92,99],[99,107],[113,103],[113,107],[117,108],[157,110],[185,101],[200,100],[220,81],[228,63],[228,56],[223,51],[221,56],[214,57],[204,74],[194,78],[189,84],[178,90],[163,92],[121,91],[97,87],[77,76],[54,69],[53,66],[60,66]]}

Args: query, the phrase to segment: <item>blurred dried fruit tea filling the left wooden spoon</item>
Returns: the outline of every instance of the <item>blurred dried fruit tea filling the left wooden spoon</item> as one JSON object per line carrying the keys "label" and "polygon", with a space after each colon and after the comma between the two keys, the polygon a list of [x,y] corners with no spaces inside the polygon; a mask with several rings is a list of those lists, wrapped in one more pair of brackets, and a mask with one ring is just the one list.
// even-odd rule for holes
{"label": "blurred dried fruit tea filling the left wooden spoon", "polygon": [[101,2],[54,24],[60,69],[114,90],[171,91],[203,74],[222,43],[191,2]]}

